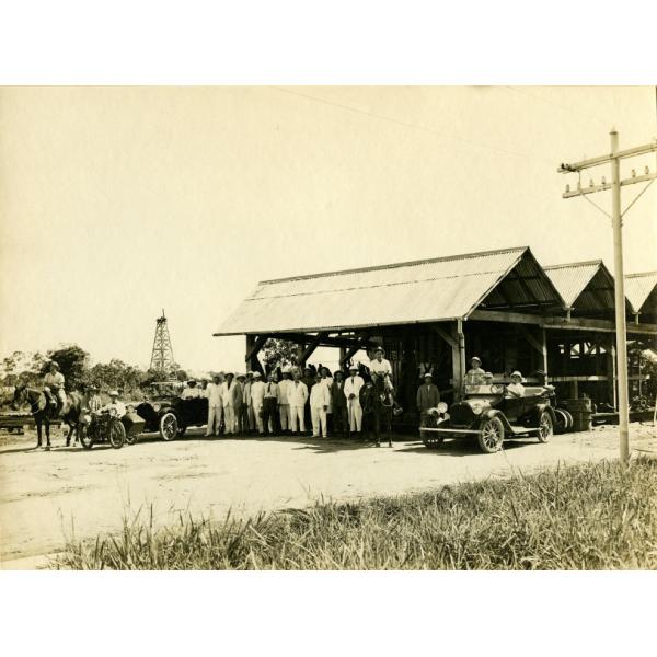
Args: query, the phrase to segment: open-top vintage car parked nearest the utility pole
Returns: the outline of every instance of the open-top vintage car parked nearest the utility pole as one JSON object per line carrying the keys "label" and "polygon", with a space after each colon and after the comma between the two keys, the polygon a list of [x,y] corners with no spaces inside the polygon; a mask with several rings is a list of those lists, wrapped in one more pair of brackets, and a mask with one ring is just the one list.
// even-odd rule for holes
{"label": "open-top vintage car parked nearest the utility pole", "polygon": [[550,385],[526,388],[521,397],[511,396],[503,384],[465,384],[464,399],[448,407],[445,402],[430,413],[420,428],[424,443],[438,447],[446,438],[476,436],[481,450],[494,453],[506,438],[535,436],[548,442],[554,433],[555,415]]}

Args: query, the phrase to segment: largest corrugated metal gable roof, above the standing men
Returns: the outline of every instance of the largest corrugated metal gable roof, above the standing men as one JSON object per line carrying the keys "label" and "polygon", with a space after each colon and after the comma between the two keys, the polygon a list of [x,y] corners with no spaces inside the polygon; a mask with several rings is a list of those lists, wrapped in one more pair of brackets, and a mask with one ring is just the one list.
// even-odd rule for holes
{"label": "largest corrugated metal gable roof, above the standing men", "polygon": [[[324,331],[466,318],[517,267],[506,297],[563,300],[529,247],[262,281],[215,335]],[[520,289],[521,288],[521,289]],[[529,293],[528,293],[529,290]],[[525,295],[523,299],[520,295]],[[486,303],[491,307],[491,303]]]}

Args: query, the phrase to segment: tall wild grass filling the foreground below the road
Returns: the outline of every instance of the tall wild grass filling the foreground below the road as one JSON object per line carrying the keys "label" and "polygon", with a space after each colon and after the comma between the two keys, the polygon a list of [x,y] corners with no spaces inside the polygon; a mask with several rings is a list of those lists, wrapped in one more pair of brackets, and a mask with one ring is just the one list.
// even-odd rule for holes
{"label": "tall wild grass filling the foreground below the road", "polygon": [[575,465],[434,493],[69,543],[76,569],[657,568],[657,460]]}

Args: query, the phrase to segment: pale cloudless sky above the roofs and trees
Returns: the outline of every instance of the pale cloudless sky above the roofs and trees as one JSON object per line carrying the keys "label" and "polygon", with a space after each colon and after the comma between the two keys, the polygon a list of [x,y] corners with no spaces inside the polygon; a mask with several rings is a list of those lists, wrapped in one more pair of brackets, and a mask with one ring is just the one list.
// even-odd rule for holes
{"label": "pale cloudless sky above the roofs and trees", "polygon": [[[515,245],[613,270],[610,220],[556,168],[656,116],[653,87],[0,89],[0,357],[147,366],[164,308],[183,367],[243,369],[212,333],[262,279]],[[657,268],[656,218],[654,185],[627,273]]]}

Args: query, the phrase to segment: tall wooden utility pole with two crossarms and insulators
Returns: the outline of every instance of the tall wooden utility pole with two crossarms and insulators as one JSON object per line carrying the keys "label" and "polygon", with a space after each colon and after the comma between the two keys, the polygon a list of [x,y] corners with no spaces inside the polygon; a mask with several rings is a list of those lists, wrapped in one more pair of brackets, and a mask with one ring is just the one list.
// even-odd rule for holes
{"label": "tall wooden utility pole with two crossarms and insulators", "polygon": [[[583,188],[581,182],[577,184],[576,191],[570,191],[570,186],[566,185],[566,191],[563,198],[574,198],[581,196],[591,205],[598,208],[602,214],[611,219],[613,228],[613,260],[614,260],[614,306],[615,306],[615,333],[616,333],[616,361],[618,361],[618,382],[619,382],[619,428],[620,428],[620,452],[621,462],[626,464],[630,461],[630,404],[629,404],[629,385],[627,385],[627,335],[625,325],[625,278],[623,274],[623,217],[627,210],[638,200],[645,191],[653,184],[657,174],[652,174],[646,166],[644,175],[637,176],[632,170],[632,177],[624,181],[621,180],[621,160],[625,158],[634,158],[646,153],[657,152],[657,141],[638,146],[624,151],[619,150],[619,134],[615,128],[611,129],[611,152],[608,155],[600,155],[590,160],[576,162],[575,164],[561,164],[557,173],[579,173],[591,166],[599,166],[609,162],[611,164],[611,183],[607,183],[604,177],[600,185],[593,185],[593,181],[587,188]],[[621,187],[634,185],[636,183],[647,183],[639,192],[634,200],[621,210]],[[588,194],[611,189],[611,215],[587,198]]]}

